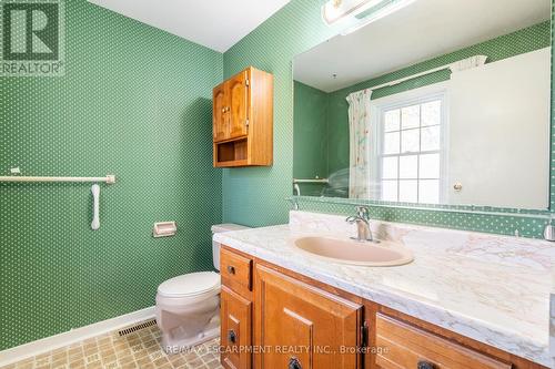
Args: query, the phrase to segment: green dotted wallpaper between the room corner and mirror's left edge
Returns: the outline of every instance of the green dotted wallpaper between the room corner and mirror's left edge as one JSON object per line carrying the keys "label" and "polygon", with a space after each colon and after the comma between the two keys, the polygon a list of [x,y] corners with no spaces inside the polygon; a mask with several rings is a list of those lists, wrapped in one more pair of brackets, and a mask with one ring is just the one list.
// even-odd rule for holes
{"label": "green dotted wallpaper between the room corner and mirror's left edge", "polygon": [[223,171],[225,222],[287,222],[293,180],[293,57],[337,33],[320,13],[324,0],[292,0],[223,55],[224,76],[252,64],[274,74],[274,164]]}

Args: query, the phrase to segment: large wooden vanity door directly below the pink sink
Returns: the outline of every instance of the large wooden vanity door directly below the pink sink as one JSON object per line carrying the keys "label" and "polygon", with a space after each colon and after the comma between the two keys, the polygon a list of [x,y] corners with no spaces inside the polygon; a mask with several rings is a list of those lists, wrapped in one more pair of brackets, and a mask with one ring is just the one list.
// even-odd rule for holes
{"label": "large wooden vanity door directly below the pink sink", "polygon": [[256,368],[357,368],[360,305],[261,265],[255,291]]}

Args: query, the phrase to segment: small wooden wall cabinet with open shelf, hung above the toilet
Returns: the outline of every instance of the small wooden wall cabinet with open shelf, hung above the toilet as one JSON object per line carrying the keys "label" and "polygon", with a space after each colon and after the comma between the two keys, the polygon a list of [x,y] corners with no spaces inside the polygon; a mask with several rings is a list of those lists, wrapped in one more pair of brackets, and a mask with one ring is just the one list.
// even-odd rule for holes
{"label": "small wooden wall cabinet with open shelf, hung above the toilet", "polygon": [[273,160],[273,75],[249,66],[213,90],[214,166]]}

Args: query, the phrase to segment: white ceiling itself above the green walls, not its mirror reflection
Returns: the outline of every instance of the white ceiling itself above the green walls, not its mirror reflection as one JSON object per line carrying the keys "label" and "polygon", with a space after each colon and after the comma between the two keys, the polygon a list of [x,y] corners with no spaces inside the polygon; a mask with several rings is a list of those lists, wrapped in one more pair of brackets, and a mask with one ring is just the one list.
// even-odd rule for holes
{"label": "white ceiling itself above the green walls, not its mirror reflection", "polygon": [[89,0],[224,52],[290,0]]}

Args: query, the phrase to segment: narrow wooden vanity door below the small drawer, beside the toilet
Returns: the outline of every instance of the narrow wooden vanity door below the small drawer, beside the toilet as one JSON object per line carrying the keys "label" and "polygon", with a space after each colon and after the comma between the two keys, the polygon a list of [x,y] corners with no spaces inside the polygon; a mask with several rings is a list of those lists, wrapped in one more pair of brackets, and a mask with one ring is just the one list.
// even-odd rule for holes
{"label": "narrow wooden vanity door below the small drawer, beside the toilet", "polygon": [[221,363],[228,369],[250,369],[252,303],[222,286]]}

